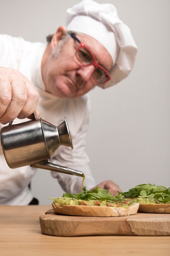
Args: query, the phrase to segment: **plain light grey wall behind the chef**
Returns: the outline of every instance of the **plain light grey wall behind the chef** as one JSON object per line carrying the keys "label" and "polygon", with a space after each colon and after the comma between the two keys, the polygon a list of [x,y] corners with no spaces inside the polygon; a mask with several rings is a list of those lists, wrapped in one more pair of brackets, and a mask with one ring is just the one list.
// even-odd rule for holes
{"label": "plain light grey wall behind the chef", "polygon": [[[78,2],[0,0],[0,33],[45,42]],[[93,175],[97,183],[114,180],[123,191],[141,183],[170,187],[170,1],[107,2],[130,27],[139,52],[128,78],[90,92],[87,152]],[[38,170],[32,190],[40,204],[64,192],[46,170]]]}

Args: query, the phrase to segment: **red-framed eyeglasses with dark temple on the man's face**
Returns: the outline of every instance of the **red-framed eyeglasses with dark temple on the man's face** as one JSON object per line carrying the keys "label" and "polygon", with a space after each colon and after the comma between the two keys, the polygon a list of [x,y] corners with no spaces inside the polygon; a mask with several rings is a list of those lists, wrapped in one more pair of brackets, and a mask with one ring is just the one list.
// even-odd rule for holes
{"label": "red-framed eyeglasses with dark temple on the man's face", "polygon": [[91,50],[84,45],[73,33],[70,33],[70,36],[75,39],[80,45],[77,48],[75,52],[75,56],[77,60],[83,65],[83,66],[95,66],[95,69],[93,71],[93,78],[97,83],[106,83],[110,80],[110,75],[108,71],[99,65],[95,59],[95,56]]}

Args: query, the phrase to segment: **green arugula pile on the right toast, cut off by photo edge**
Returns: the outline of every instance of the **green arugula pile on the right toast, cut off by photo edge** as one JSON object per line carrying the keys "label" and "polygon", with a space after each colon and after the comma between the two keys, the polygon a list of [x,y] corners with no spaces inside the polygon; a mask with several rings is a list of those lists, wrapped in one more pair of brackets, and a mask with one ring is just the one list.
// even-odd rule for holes
{"label": "green arugula pile on the right toast, cut off by photo edge", "polygon": [[127,192],[119,192],[116,197],[124,198],[156,198],[160,203],[170,203],[170,188],[155,184],[140,184]]}

